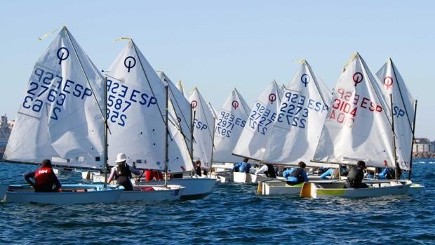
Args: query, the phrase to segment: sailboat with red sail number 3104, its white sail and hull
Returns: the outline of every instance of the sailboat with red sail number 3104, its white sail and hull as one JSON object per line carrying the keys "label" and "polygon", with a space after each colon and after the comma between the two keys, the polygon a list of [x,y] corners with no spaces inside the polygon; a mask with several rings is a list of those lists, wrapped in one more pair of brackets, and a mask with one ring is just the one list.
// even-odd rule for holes
{"label": "sailboat with red sail number 3104, its white sail and hull", "polygon": [[[352,55],[335,86],[333,102],[314,154],[315,161],[335,164],[396,167],[394,117],[390,119],[380,83],[359,53]],[[344,188],[344,183],[304,183],[301,197],[380,197],[406,194],[406,180],[368,183],[368,188]]]}

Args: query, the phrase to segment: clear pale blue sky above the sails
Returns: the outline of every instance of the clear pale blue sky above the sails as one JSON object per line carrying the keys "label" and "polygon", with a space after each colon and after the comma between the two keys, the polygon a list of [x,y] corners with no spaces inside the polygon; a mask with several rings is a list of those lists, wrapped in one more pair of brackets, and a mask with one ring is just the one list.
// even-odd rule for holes
{"label": "clear pale blue sky above the sails", "polygon": [[417,137],[435,140],[435,1],[2,1],[0,113],[15,118],[30,72],[67,25],[97,67],[132,37],[154,69],[220,107],[236,87],[252,104],[306,59],[329,88],[359,51],[373,72],[391,57],[419,100]]}

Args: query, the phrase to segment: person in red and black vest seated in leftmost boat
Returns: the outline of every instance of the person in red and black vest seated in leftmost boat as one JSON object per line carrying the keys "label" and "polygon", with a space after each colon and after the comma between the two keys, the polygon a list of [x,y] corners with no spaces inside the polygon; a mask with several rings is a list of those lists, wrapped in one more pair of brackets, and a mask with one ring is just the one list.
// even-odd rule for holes
{"label": "person in red and black vest seated in leftmost boat", "polygon": [[[44,159],[41,162],[41,168],[34,172],[25,173],[23,177],[29,185],[34,187],[35,192],[58,192],[60,187],[62,187],[53,168],[51,168],[51,161],[49,159]],[[35,180],[34,183],[30,180],[31,178]]]}

